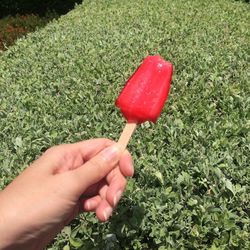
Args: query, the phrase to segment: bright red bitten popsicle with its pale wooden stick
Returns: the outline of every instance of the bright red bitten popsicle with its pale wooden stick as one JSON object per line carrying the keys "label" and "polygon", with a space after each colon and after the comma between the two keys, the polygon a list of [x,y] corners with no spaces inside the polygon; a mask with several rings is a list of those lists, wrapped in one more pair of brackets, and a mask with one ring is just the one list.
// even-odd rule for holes
{"label": "bright red bitten popsicle with its pale wooden stick", "polygon": [[167,100],[173,65],[159,55],[148,56],[129,78],[116,100],[127,124],[118,143],[125,149],[136,126],[156,122]]}

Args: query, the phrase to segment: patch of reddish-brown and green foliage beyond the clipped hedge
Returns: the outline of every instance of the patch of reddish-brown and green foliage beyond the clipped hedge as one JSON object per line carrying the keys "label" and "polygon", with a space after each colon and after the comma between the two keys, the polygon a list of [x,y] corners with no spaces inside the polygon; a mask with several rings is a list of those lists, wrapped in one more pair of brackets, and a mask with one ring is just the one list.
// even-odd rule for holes
{"label": "patch of reddish-brown and green foliage beyond the clipped hedge", "polygon": [[31,14],[7,16],[0,19],[0,50],[8,48],[17,38],[45,26],[50,20],[57,17],[56,13],[50,12],[44,17]]}

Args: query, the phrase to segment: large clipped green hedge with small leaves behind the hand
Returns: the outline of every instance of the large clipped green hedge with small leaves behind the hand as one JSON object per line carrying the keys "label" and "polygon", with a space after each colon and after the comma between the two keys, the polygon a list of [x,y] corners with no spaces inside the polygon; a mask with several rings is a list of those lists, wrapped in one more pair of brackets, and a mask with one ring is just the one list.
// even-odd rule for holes
{"label": "large clipped green hedge with small leaves behind the hand", "polygon": [[228,0],[88,0],[1,55],[2,188],[54,144],[118,139],[114,101],[146,55],[175,67],[110,222],[83,214],[50,249],[250,249],[249,19]]}

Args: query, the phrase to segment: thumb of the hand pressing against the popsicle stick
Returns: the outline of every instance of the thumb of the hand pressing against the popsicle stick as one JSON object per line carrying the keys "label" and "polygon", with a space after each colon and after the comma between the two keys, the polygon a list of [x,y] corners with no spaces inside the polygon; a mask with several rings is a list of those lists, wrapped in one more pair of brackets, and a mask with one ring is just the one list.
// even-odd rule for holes
{"label": "thumb of the hand pressing against the popsicle stick", "polygon": [[77,192],[82,194],[89,186],[103,179],[118,163],[122,150],[118,144],[103,149],[81,167],[71,171]]}

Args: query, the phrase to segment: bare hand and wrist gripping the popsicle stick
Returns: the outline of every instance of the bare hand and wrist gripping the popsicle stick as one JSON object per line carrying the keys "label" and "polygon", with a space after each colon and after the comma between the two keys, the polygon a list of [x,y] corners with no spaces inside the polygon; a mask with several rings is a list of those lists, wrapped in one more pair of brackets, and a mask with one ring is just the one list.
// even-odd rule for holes
{"label": "bare hand and wrist gripping the popsicle stick", "polygon": [[52,147],[0,192],[0,249],[43,249],[81,211],[107,220],[132,175],[110,140]]}

